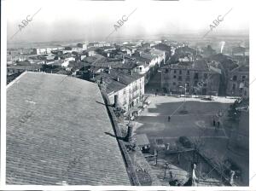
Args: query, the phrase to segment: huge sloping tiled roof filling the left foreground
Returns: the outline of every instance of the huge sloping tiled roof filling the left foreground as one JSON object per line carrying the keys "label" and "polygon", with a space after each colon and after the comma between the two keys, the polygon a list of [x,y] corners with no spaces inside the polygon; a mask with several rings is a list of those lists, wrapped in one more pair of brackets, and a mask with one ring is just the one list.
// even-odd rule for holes
{"label": "huge sloping tiled roof filling the left foreground", "polygon": [[25,72],[7,89],[7,184],[130,185],[97,84]]}

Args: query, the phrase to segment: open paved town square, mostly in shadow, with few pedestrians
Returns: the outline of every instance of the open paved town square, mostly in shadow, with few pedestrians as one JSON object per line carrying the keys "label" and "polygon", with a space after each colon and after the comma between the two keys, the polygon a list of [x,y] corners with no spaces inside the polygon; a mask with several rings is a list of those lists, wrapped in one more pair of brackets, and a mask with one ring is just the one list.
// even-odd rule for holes
{"label": "open paved town square, mostly in shadow, with few pedestrians", "polygon": [[[151,103],[136,119],[136,133],[146,133],[149,139],[178,138],[179,136],[224,138],[226,132],[221,125],[215,130],[212,118],[218,111],[227,110],[234,99],[217,97],[214,101],[199,98],[177,98],[172,96],[150,96]],[[180,113],[185,108],[187,114]],[[168,116],[171,116],[168,121]]]}

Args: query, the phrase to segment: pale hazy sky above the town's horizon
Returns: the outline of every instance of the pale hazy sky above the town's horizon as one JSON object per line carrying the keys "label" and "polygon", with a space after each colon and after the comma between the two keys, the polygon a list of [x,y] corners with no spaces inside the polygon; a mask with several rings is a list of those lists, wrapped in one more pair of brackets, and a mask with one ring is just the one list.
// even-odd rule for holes
{"label": "pale hazy sky above the town's horizon", "polygon": [[[3,1],[7,14],[8,39],[19,30],[27,15],[36,14],[32,21],[18,32],[11,42],[84,39],[104,40],[113,32],[114,24],[123,15],[131,14],[124,25],[109,39],[119,37],[148,37],[158,34],[195,33],[203,36],[210,30],[218,15],[224,20],[213,29],[214,34],[248,32],[249,11],[247,1],[181,0],[179,2],[134,0],[125,2],[44,0]],[[30,17],[28,17],[30,18]]]}

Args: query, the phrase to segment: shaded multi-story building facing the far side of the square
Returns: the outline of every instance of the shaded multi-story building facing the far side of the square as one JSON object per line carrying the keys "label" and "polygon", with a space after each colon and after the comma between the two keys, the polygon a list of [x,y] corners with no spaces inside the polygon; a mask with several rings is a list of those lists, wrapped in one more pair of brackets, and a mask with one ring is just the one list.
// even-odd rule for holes
{"label": "shaded multi-story building facing the far side of the square", "polygon": [[199,60],[180,62],[161,68],[161,88],[166,92],[218,95],[218,63]]}

